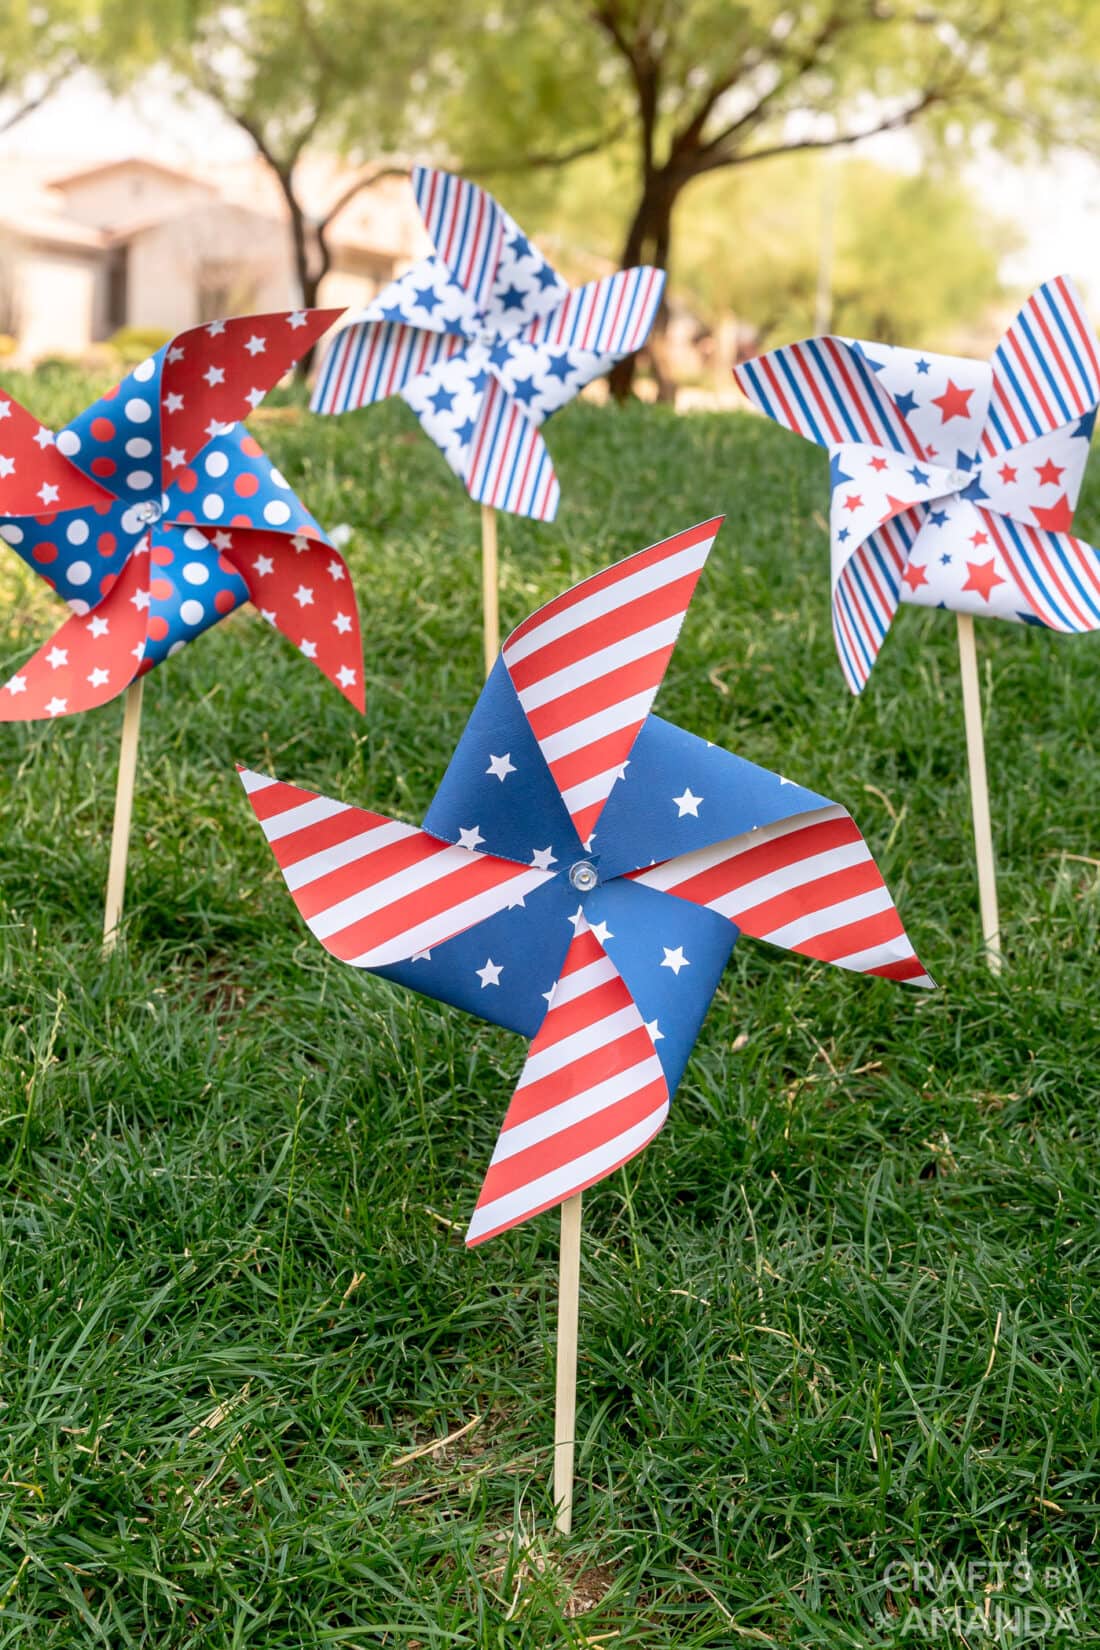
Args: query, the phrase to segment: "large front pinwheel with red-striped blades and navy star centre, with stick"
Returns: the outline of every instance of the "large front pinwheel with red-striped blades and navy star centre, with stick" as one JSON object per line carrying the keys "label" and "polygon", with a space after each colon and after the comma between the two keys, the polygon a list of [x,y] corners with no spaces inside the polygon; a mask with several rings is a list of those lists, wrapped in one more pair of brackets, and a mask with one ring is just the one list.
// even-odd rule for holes
{"label": "large front pinwheel with red-striped blades and navy star centre, with stick", "polygon": [[467,1242],[562,1208],[566,1530],[581,1193],[661,1129],[737,934],[932,985],[844,808],[651,714],[717,526],[513,630],[422,830],[241,776],[328,952],[533,1038]]}

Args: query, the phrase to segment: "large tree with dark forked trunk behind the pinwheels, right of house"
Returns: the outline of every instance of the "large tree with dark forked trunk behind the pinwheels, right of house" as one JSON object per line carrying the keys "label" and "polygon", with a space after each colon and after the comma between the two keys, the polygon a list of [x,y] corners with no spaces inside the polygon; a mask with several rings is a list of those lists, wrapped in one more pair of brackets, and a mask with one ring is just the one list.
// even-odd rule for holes
{"label": "large tree with dark forked trunk behind the pinwheels, right of house", "polygon": [[[533,148],[533,96],[511,96],[524,73],[539,148],[551,127],[592,142],[632,132],[622,266],[668,267],[678,203],[716,172],[915,122],[943,142],[983,129],[1080,144],[1100,130],[1093,0],[543,0],[495,12],[485,48],[465,96],[487,173]],[[632,370],[612,375],[617,393]]]}

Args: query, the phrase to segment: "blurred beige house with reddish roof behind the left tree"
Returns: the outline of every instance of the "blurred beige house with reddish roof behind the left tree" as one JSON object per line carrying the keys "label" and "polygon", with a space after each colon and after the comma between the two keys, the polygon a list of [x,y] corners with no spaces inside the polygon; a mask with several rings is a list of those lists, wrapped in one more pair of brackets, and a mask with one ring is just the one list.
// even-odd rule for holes
{"label": "blurred beige house with reddish roof behind the left tree", "polygon": [[[303,193],[323,210],[343,183],[322,160]],[[355,196],[331,243],[322,302],[364,304],[424,251],[404,180]],[[173,333],[297,302],[282,200],[259,160],[209,177],[143,157],[76,172],[0,163],[0,333],[20,361],[84,356],[122,327]]]}

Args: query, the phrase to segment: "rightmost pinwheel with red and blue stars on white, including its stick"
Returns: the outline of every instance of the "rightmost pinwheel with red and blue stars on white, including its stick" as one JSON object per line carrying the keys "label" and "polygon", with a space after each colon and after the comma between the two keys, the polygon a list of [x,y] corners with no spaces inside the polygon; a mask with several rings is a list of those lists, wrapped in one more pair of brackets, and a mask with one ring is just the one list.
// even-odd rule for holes
{"label": "rightmost pinwheel with red and blue stars on white, including its stick", "polygon": [[1065,276],[990,361],[808,338],[734,368],[749,399],[830,452],[833,634],[859,693],[899,602],[957,614],[986,955],[1001,965],[973,615],[1100,627],[1100,553],[1070,535],[1100,360]]}

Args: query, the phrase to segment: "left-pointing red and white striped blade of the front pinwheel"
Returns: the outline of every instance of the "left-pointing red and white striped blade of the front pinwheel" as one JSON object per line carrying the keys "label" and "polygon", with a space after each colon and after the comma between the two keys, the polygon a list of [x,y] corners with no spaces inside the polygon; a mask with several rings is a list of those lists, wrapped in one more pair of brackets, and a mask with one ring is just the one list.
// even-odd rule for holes
{"label": "left-pointing red and white striped blade of the front pinwheel", "polygon": [[355,969],[381,969],[442,945],[554,874],[239,772],[307,927]]}

